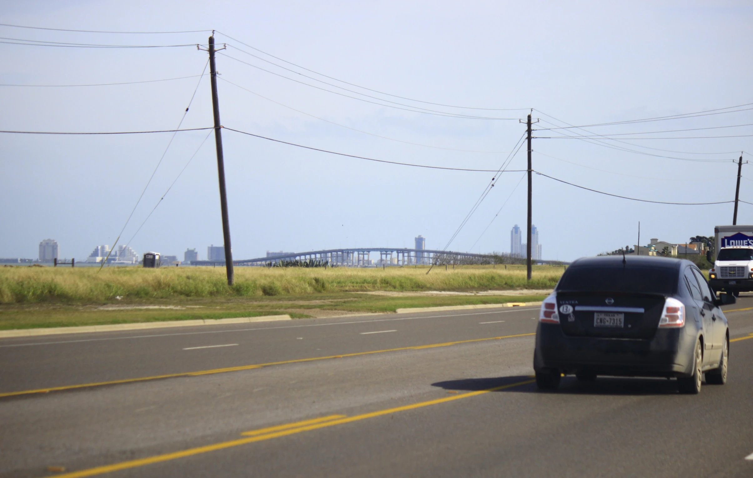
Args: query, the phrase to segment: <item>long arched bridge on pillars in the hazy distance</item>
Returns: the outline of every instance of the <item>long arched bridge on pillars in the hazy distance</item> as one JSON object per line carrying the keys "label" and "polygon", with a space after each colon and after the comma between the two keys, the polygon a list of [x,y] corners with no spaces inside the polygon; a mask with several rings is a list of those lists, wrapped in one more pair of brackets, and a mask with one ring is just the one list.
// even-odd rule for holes
{"label": "long arched bridge on pillars in the hazy distance", "polygon": [[[379,260],[372,261],[370,255],[379,253]],[[410,248],[345,248],[324,251],[291,252],[255,259],[233,260],[235,266],[271,266],[280,260],[319,260],[331,265],[346,267],[370,266],[429,266],[431,264],[492,264],[524,263],[525,257],[512,257],[509,254],[471,254],[470,252],[435,251],[432,249]],[[535,260],[535,263],[560,263],[557,260]],[[194,260],[192,266],[224,266],[224,260]]]}

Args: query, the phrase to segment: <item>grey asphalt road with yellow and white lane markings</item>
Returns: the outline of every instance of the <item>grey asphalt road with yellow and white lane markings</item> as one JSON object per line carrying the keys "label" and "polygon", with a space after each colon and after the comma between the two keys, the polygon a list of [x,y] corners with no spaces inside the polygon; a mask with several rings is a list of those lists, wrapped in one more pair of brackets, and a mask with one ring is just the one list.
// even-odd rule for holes
{"label": "grey asphalt road with yellow and white lane markings", "polygon": [[749,477],[753,297],[725,309],[697,396],[536,391],[538,308],[0,339],[0,476]]}

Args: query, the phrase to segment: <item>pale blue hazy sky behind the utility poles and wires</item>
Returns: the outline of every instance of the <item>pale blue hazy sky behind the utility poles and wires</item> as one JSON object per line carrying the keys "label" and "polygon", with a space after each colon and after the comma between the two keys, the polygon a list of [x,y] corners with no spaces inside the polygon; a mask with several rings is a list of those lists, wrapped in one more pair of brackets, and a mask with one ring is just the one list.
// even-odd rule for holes
{"label": "pale blue hazy sky behind the utility poles and wires", "polygon": [[[297,65],[381,92],[449,105],[535,108],[534,118],[553,121],[547,117],[550,114],[578,125],[753,103],[753,4],[615,3],[213,2],[208,9],[206,2],[3,2],[0,23],[117,31],[217,29]],[[0,27],[0,33],[5,38],[26,40],[149,45],[206,43],[208,36],[11,27]],[[216,39],[264,56],[220,33]],[[96,84],[199,75],[207,58],[196,47],[0,44],[0,52],[4,60],[0,63],[2,84]],[[233,48],[222,53],[316,83]],[[498,169],[524,130],[517,119],[439,117],[356,101],[270,75],[223,55],[218,55],[218,71],[223,80],[276,102],[374,135],[441,148],[500,152],[448,151],[381,139],[300,114],[219,81],[224,126],[346,154]],[[197,81],[187,78],[106,87],[3,86],[0,102],[5,114],[0,117],[0,129],[174,129]],[[408,103],[484,116],[523,119],[527,113],[461,111]],[[753,123],[753,110],[589,130],[613,134],[748,123]],[[202,79],[183,123],[189,128],[205,126],[212,126],[208,78]],[[121,243],[133,236],[206,134],[178,133]],[[753,135],[753,126],[654,136],[710,135]],[[62,257],[79,260],[95,245],[112,245],[169,138],[169,134],[0,134],[0,257],[36,257],[38,243],[47,238],[59,242]],[[224,131],[223,139],[236,259],[259,257],[267,250],[413,247],[413,237],[419,234],[425,236],[427,248],[444,248],[493,175],[372,163],[230,131]],[[577,139],[535,139],[533,168],[621,196],[714,202],[734,199],[736,165],[732,160],[739,157],[739,151],[753,152],[751,137],[630,143],[622,146],[726,161],[674,160]],[[737,152],[689,154],[731,151]],[[744,159],[751,160],[751,156]],[[508,169],[525,167],[524,147]],[[743,166],[740,193],[741,199],[749,202],[753,202],[751,167]],[[526,181],[513,192],[523,174],[503,175],[450,245],[451,250],[509,251],[511,227],[525,227],[526,223]],[[731,224],[732,220],[732,204],[633,202],[537,175],[533,187],[533,222],[546,259],[573,260],[633,245],[638,221],[645,244],[652,237],[684,242],[699,234],[711,236],[716,224]],[[206,246],[222,242],[218,196],[210,138],[130,245],[139,254],[160,251],[181,259],[186,248],[197,248],[200,258],[206,258]],[[505,208],[481,236],[508,196],[511,199]],[[738,224],[753,223],[751,215],[753,206],[741,204]]]}

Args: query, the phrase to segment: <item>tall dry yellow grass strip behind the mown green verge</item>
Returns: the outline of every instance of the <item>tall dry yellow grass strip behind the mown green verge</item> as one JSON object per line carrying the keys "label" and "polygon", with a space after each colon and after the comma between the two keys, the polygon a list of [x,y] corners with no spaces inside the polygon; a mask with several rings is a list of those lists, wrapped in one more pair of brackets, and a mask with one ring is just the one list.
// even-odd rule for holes
{"label": "tall dry yellow grass strip behind the mown green verge", "polygon": [[535,266],[526,282],[525,266],[388,267],[236,267],[236,284],[228,287],[224,268],[142,267],[0,268],[0,303],[102,303],[123,299],[177,297],[253,297],[365,291],[483,291],[553,288],[562,268]]}

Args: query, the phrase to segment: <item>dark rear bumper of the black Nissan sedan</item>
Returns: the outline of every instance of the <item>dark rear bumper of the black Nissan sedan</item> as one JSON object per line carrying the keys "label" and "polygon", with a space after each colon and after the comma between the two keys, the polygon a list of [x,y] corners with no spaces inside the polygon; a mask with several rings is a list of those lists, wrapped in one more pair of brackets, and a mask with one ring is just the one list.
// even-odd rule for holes
{"label": "dark rear bumper of the black Nissan sedan", "polygon": [[696,337],[684,328],[652,339],[566,336],[559,324],[538,324],[534,370],[614,376],[690,376]]}

